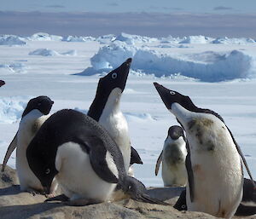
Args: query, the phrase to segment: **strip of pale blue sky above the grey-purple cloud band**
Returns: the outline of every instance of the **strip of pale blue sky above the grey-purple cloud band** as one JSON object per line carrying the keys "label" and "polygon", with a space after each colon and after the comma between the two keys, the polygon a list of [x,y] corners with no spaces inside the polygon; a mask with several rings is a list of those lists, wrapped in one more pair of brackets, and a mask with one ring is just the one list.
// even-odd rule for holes
{"label": "strip of pale blue sky above the grey-purple cloud band", "polygon": [[256,11],[255,0],[8,0],[1,1],[2,11],[44,12],[189,12],[241,13]]}

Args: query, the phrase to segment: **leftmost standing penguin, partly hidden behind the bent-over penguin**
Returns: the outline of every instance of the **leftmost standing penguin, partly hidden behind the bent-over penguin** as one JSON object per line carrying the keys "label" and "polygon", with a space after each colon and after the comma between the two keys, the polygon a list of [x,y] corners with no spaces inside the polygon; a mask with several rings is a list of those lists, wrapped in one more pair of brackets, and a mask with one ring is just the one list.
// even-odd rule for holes
{"label": "leftmost standing penguin, partly hidden behind the bent-over penguin", "polygon": [[[3,160],[3,169],[9,160],[11,153],[16,150],[16,170],[20,181],[20,190],[30,193],[43,193],[44,188],[38,178],[33,174],[26,159],[26,148],[33,136],[36,135],[44,121],[49,118],[49,111],[54,104],[48,96],[38,96],[28,101],[22,113],[19,130],[11,141]],[[56,183],[51,187],[54,192]]]}

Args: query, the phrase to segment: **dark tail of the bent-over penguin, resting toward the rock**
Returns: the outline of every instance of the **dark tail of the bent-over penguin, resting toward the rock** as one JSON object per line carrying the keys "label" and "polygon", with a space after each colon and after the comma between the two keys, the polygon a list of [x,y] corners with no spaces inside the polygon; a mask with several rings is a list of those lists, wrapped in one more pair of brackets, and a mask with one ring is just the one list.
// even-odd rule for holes
{"label": "dark tail of the bent-over penguin, resting toward the rock", "polygon": [[169,205],[160,199],[150,197],[143,182],[138,181],[134,177],[125,176],[125,179],[122,181],[120,186],[122,187],[123,191],[131,197],[131,199],[156,205]]}

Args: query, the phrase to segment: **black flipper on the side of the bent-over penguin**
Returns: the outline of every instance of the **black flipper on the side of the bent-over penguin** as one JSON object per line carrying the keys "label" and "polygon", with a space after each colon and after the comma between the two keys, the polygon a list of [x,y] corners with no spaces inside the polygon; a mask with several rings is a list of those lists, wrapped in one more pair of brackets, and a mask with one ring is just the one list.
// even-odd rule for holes
{"label": "black flipper on the side of the bent-over penguin", "polygon": [[119,179],[108,168],[107,149],[102,139],[96,135],[90,136],[86,138],[84,144],[89,148],[90,164],[96,175],[106,182],[118,183]]}

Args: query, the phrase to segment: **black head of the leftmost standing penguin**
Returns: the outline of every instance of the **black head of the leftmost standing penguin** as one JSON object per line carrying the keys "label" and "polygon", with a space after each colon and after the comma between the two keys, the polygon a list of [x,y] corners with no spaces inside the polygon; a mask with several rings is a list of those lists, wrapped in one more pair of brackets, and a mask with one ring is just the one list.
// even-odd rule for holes
{"label": "black head of the leftmost standing penguin", "polygon": [[51,101],[46,95],[40,95],[36,98],[32,98],[30,101],[28,101],[21,118],[25,117],[26,114],[34,109],[38,109],[44,115],[47,115],[53,104],[54,101]]}

